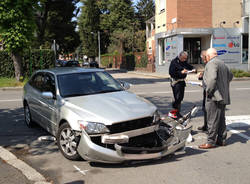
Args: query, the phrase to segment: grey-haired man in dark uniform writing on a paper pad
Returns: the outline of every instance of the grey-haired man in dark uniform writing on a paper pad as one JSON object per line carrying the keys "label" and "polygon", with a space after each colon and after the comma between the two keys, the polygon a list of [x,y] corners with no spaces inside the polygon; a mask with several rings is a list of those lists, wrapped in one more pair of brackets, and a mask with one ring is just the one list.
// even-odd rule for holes
{"label": "grey-haired man in dark uniform writing on a paper pad", "polygon": [[[169,74],[171,76],[171,87],[174,94],[174,102],[172,104],[173,110],[170,114],[174,115],[175,118],[180,118],[181,114],[181,101],[184,98],[185,92],[185,78],[190,70],[195,71],[193,66],[187,63],[188,53],[182,51],[178,57],[171,61],[169,67]],[[176,116],[175,116],[176,115]]]}

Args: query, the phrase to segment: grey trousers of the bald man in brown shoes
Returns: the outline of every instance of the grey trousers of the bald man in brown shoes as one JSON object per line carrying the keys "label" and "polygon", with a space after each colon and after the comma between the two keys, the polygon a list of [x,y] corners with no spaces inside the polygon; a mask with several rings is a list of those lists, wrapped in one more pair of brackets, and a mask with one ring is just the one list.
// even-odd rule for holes
{"label": "grey trousers of the bald man in brown shoes", "polygon": [[208,125],[207,143],[213,145],[215,145],[216,142],[222,143],[227,137],[225,120],[226,105],[207,98],[205,106]]}

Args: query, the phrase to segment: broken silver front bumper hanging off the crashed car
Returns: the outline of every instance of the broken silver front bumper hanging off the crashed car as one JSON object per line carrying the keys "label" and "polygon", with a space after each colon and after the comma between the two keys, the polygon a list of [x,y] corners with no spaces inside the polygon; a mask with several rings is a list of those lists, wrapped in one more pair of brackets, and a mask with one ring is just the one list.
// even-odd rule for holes
{"label": "broken silver front bumper hanging off the crashed car", "polygon": [[[125,147],[119,143],[128,142],[130,138],[146,135],[148,133],[157,131],[158,126],[151,126],[147,128],[132,130],[119,134],[103,135],[102,142],[113,144],[114,150],[100,146],[91,141],[91,138],[85,132],[82,133],[78,153],[88,161],[105,162],[105,163],[121,163],[128,160],[147,160],[158,159],[185,146],[186,139],[192,127],[177,130],[177,137],[173,137],[169,144],[162,147],[142,148],[142,147]],[[124,152],[124,150],[140,150],[141,153],[131,154]]]}

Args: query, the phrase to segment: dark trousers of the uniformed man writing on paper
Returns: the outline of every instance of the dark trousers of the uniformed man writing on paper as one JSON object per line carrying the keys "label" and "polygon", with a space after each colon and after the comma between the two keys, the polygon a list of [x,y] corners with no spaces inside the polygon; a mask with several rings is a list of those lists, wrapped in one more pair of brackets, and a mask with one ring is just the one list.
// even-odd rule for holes
{"label": "dark trousers of the uniformed man writing on paper", "polygon": [[172,104],[174,109],[178,109],[178,111],[181,111],[181,101],[184,98],[184,91],[185,91],[185,82],[181,81],[176,83],[174,86],[172,86],[172,91],[174,94],[174,102]]}

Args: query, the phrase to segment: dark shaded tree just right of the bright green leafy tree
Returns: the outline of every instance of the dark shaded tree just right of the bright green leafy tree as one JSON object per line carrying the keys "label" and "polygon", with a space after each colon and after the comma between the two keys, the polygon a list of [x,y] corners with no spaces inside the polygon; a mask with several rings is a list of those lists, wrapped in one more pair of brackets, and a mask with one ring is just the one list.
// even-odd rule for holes
{"label": "dark shaded tree just right of the bright green leafy tree", "polygon": [[36,12],[37,47],[50,48],[53,40],[60,46],[60,51],[73,52],[80,44],[76,32],[79,0],[40,0]]}

